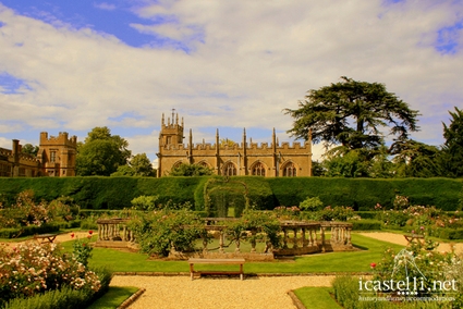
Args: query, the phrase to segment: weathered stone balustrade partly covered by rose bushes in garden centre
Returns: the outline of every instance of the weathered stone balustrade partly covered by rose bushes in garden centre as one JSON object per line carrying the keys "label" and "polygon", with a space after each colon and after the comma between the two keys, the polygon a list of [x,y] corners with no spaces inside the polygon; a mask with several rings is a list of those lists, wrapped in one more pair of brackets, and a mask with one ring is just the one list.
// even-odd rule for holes
{"label": "weathered stone balustrade partly covered by rose bushes in garden centre", "polygon": [[[241,248],[242,239],[227,239],[224,221],[233,221],[230,218],[205,218],[206,234],[202,239],[202,257],[219,257],[228,255],[231,257],[249,258],[254,260],[266,260],[271,256],[298,256],[315,252],[352,250],[351,231],[352,224],[346,222],[305,222],[305,221],[281,221],[281,248],[272,248],[270,242],[266,239],[265,233],[258,227],[249,228],[246,239],[251,244],[251,250],[243,252]],[[105,219],[98,220],[98,240],[96,246],[100,247],[127,247],[135,242],[133,232],[126,226],[127,219]],[[187,228],[185,226],[185,228]],[[330,233],[329,242],[326,240],[326,233]],[[218,239],[218,247],[210,248],[210,238]],[[258,239],[265,244],[263,249],[257,250]],[[229,242],[229,244],[226,244]],[[234,244],[233,244],[234,243]],[[234,246],[234,250],[227,250],[228,246]],[[173,250],[173,255],[179,257],[183,252]],[[196,252],[197,255],[197,252]],[[257,256],[260,255],[260,258]],[[251,259],[251,258],[249,258]]]}

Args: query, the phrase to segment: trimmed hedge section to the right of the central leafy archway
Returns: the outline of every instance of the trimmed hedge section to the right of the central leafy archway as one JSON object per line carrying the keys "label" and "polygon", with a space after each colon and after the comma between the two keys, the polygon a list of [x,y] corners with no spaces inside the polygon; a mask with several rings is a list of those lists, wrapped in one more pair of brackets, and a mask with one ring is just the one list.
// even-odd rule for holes
{"label": "trimmed hedge section to the right of the central leafy archway", "polygon": [[297,206],[307,197],[318,196],[325,206],[350,206],[354,210],[374,210],[376,203],[392,208],[395,195],[410,198],[412,205],[456,210],[462,180],[453,178],[268,178],[275,203]]}

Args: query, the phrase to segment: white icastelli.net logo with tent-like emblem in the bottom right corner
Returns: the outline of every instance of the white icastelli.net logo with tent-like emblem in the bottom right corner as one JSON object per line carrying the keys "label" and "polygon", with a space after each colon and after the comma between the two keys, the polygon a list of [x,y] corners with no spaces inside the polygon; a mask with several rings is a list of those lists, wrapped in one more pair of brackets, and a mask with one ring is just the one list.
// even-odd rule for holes
{"label": "white icastelli.net logo with tent-like emblem in the bottom right corner", "polygon": [[[376,267],[375,263],[371,267]],[[452,301],[455,300],[458,282],[454,279],[431,279],[431,273],[423,272],[416,264],[413,252],[402,249],[394,257],[390,279],[367,280],[360,277],[360,300],[380,301]]]}

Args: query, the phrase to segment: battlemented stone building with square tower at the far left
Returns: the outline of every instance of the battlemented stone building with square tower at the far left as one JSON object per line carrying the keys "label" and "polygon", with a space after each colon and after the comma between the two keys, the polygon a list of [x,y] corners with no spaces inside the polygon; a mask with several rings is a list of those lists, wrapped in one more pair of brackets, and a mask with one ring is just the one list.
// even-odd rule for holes
{"label": "battlemented stone building with square tower at the far left", "polygon": [[11,150],[0,148],[0,176],[75,176],[76,153],[77,137],[69,138],[66,132],[60,132],[57,137],[40,133],[37,158],[22,153],[20,140],[13,139]]}

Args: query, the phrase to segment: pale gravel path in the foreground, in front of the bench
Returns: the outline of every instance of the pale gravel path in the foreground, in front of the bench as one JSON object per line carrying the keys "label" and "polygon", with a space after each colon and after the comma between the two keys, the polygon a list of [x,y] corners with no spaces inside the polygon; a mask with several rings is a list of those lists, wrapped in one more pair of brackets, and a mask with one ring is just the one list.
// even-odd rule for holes
{"label": "pale gravel path in the foreground, in front of the bench", "polygon": [[303,286],[330,286],[334,276],[275,276],[192,281],[190,276],[114,276],[112,286],[146,292],[131,309],[294,309],[288,292]]}

